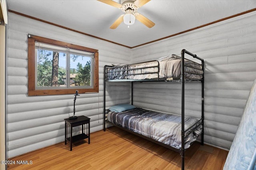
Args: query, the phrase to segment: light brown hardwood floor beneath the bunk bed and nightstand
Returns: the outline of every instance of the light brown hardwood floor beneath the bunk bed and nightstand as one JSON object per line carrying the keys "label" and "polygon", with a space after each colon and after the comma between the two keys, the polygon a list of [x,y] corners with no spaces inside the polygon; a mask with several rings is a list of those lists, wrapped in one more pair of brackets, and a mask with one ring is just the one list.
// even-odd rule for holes
{"label": "light brown hardwood floor beneath the bunk bed and nightstand", "polygon": [[[110,127],[91,134],[88,140],[59,143],[11,160],[32,164],[9,165],[8,170],[180,170],[180,154],[131,133]],[[228,151],[194,143],[185,152],[187,170],[222,170]]]}

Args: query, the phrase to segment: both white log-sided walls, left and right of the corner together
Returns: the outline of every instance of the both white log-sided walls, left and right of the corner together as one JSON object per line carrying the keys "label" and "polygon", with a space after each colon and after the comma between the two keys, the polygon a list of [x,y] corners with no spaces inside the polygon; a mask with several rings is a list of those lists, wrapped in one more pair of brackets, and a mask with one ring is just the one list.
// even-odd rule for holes
{"label": "both white log-sided walls, left and right of the corner together", "polygon": [[[205,142],[229,149],[256,78],[256,12],[133,49],[13,13],[8,17],[9,158],[64,141],[63,119],[73,113],[73,95],[28,97],[28,34],[99,50],[99,93],[81,94],[76,100],[76,115],[91,118],[91,132],[103,129],[105,64],[180,55],[182,49],[195,53],[206,66]],[[134,105],[180,114],[179,83],[138,83],[134,88]],[[185,114],[200,117],[200,84],[187,83],[185,88]],[[106,90],[107,107],[130,102],[129,83],[108,84]]]}

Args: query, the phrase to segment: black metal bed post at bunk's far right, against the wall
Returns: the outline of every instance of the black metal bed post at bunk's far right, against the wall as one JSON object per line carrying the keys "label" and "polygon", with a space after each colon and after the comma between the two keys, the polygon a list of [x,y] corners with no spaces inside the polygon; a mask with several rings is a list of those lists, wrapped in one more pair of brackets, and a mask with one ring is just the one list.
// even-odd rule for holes
{"label": "black metal bed post at bunk's far right, against the wall", "polygon": [[201,145],[204,145],[204,60],[202,59],[202,70],[203,70],[203,77],[202,77],[202,134],[201,134]]}

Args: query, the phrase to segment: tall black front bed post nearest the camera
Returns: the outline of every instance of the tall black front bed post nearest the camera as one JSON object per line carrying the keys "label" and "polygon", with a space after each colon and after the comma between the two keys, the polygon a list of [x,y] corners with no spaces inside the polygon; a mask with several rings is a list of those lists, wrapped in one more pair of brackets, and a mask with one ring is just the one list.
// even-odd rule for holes
{"label": "tall black front bed post nearest the camera", "polygon": [[185,164],[185,72],[184,72],[184,54],[185,49],[181,51],[181,169],[184,170]]}

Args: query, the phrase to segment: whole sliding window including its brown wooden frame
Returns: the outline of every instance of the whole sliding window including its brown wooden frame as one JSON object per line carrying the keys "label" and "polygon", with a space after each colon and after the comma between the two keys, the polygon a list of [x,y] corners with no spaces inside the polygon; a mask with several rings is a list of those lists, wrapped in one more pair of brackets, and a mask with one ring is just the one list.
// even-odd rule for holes
{"label": "whole sliding window including its brown wooden frame", "polygon": [[98,50],[28,35],[28,96],[98,92]]}

